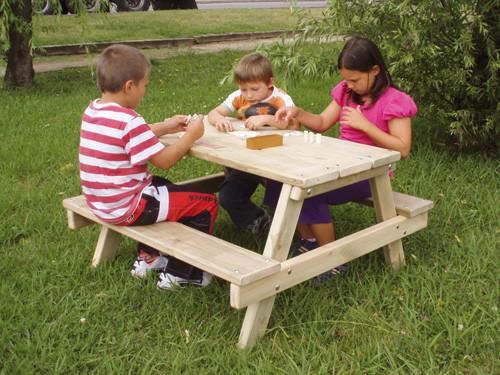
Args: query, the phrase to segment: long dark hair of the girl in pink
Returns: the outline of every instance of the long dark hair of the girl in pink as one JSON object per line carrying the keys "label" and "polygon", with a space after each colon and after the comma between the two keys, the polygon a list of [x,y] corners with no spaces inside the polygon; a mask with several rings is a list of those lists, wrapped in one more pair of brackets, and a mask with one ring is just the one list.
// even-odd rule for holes
{"label": "long dark hair of the girl in pink", "polygon": [[[360,36],[349,38],[342,48],[337,62],[337,68],[369,72],[374,65],[380,67],[380,73],[375,77],[375,83],[371,90],[372,101],[376,102],[379,96],[392,83],[391,75],[387,70],[384,58],[378,47],[371,40]],[[352,100],[357,104],[363,104],[361,96],[351,92]]]}

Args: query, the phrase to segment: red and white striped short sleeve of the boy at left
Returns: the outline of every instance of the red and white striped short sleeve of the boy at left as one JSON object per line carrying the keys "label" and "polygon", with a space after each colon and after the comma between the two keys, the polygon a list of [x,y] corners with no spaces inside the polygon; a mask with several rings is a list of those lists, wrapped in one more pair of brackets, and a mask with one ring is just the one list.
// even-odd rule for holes
{"label": "red and white striped short sleeve of the boy at left", "polygon": [[125,150],[132,165],[146,164],[163,146],[142,117],[134,117],[125,127]]}

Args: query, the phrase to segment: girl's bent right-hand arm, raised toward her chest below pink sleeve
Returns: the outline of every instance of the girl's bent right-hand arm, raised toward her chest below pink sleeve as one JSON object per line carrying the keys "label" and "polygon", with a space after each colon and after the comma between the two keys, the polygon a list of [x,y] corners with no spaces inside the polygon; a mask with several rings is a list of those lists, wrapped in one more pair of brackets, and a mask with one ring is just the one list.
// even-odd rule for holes
{"label": "girl's bent right-hand arm, raised toward her chest below pink sleeve", "polygon": [[389,120],[389,133],[386,133],[375,125],[355,108],[344,108],[341,123],[352,126],[366,133],[373,142],[390,150],[399,151],[404,159],[410,153],[411,148],[411,118],[394,118]]}

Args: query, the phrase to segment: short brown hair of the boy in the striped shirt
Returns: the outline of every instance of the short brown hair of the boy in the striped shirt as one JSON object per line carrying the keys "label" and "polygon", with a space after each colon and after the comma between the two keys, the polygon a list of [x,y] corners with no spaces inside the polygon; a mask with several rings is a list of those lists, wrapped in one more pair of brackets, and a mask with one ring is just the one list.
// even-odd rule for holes
{"label": "short brown hair of the boy in the striped shirt", "polygon": [[97,59],[97,85],[101,92],[118,92],[125,82],[139,82],[151,63],[137,48],[124,44],[107,47]]}

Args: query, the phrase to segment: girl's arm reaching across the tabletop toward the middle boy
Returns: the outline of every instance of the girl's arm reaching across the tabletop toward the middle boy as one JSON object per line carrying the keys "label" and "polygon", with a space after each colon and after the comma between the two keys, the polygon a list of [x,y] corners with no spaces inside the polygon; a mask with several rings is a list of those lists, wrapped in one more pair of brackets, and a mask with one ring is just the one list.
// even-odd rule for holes
{"label": "girl's arm reaching across the tabletop toward the middle boy", "polygon": [[307,128],[323,133],[338,121],[340,110],[340,106],[333,100],[319,115],[307,112],[299,107],[284,107],[276,112],[275,118],[277,121],[296,119]]}

